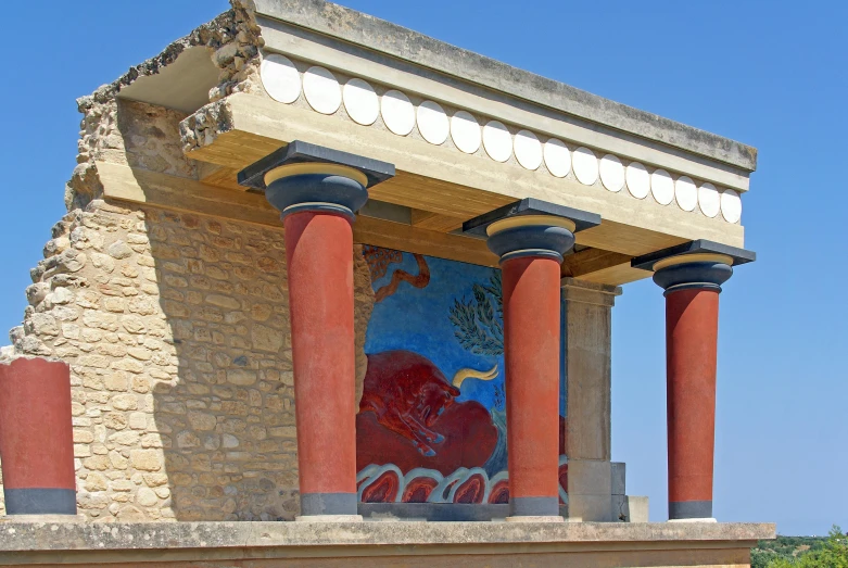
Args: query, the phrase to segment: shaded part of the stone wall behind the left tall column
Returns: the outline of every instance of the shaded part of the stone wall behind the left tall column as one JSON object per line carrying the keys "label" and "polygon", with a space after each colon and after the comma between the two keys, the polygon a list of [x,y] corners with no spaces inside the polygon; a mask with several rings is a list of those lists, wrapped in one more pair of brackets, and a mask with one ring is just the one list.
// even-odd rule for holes
{"label": "shaded part of the stone wall behind the left tall column", "polygon": [[[167,475],[147,477],[167,483],[178,520],[291,520],[298,462],[282,231],[163,211],[147,220],[179,369],[153,389]],[[372,294],[355,252],[362,353]]]}

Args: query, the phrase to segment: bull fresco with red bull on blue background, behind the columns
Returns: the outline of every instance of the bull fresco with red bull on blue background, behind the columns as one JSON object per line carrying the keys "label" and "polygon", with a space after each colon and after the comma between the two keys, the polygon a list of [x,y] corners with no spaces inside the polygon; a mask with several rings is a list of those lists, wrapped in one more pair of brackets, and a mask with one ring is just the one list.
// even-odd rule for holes
{"label": "bull fresco with red bull on blue background, behind the columns", "polygon": [[364,255],[376,303],[356,417],[359,501],[508,503],[501,272],[377,247]]}

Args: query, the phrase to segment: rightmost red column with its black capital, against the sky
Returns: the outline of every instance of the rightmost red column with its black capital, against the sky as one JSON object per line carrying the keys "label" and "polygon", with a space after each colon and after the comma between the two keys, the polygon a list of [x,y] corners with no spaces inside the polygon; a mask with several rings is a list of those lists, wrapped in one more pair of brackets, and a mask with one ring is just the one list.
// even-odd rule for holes
{"label": "rightmost red column with its black capital, against the sky", "polygon": [[633,258],[666,292],[669,520],[711,520],[719,294],[751,251],[707,240]]}

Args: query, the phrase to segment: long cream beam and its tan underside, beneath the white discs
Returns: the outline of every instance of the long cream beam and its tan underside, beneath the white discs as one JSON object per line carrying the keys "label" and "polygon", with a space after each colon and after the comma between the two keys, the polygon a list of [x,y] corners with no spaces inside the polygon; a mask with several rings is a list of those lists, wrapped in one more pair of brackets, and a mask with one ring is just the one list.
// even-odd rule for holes
{"label": "long cream beam and its tan underside, beneath the white discs", "polygon": [[570,177],[556,178],[544,168],[530,172],[264,97],[237,93],[222,104],[227,106],[229,130],[188,152],[189,157],[240,169],[302,139],[393,163],[396,177],[371,191],[374,199],[387,203],[471,218],[522,198],[536,198],[598,213],[602,225],[580,232],[578,243],[634,256],[693,239],[744,243],[739,225],[584,186]]}

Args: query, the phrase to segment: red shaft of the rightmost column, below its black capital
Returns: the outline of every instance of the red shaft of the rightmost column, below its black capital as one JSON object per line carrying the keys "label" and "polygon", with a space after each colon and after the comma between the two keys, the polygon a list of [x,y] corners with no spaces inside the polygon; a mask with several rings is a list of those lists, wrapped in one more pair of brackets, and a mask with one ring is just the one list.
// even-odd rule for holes
{"label": "red shaft of the rightmost column, below its black capital", "polygon": [[[666,300],[668,374],[669,503],[672,518],[687,503],[709,504],[712,512],[712,463],[716,443],[716,354],[719,293],[681,290]],[[675,515],[675,507],[683,512]],[[683,507],[683,508],[680,508]],[[693,510],[699,510],[695,508]]]}

